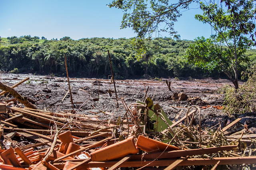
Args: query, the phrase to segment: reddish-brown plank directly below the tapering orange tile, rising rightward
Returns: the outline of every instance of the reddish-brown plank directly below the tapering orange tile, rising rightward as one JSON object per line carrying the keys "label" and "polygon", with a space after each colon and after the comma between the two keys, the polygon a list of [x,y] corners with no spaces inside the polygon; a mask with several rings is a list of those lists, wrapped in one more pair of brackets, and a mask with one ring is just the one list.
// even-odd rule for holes
{"label": "reddish-brown plank directly below the tapering orange tile, rising rightward", "polygon": [[[204,149],[190,149],[190,150],[173,150],[169,152],[156,152],[156,153],[148,153],[143,154],[143,159],[164,159],[164,158],[177,158],[177,157],[186,157],[186,156],[193,156],[193,155],[202,155],[202,154],[212,154],[223,150],[234,150],[236,149],[236,145],[230,146],[222,146],[222,147],[211,147],[211,148],[204,148]],[[132,156],[131,160],[138,160],[141,159],[142,155],[134,155]]]}

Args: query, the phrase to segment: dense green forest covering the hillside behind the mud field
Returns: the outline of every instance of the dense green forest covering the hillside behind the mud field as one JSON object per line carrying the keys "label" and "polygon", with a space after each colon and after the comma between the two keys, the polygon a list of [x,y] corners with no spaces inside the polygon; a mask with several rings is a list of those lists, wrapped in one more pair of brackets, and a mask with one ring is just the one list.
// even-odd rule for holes
{"label": "dense green forest covering the hillside behind the mud field", "polygon": [[[107,78],[111,74],[108,50],[116,78],[142,77],[218,77],[218,72],[207,72],[187,64],[183,56],[189,40],[156,38],[146,42],[147,51],[138,56],[133,38],[70,37],[47,40],[44,37],[8,37],[0,40],[0,70],[2,72],[31,72],[36,74],[66,75],[64,55],[72,76]],[[241,63],[240,72],[256,63],[256,50],[245,54],[247,63]],[[224,76],[224,75],[222,75]]]}

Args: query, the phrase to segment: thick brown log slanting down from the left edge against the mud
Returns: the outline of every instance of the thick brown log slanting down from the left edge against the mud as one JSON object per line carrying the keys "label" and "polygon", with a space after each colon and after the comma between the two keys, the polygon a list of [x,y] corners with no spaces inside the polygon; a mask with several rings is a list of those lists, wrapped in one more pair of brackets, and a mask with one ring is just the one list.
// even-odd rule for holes
{"label": "thick brown log slanting down from the left edge against the mud", "polygon": [[14,98],[16,98],[20,103],[24,104],[24,106],[32,108],[32,109],[37,109],[36,106],[34,106],[32,103],[28,102],[28,99],[26,97],[21,96],[12,87],[0,82],[0,89],[12,94],[12,96],[14,96]]}

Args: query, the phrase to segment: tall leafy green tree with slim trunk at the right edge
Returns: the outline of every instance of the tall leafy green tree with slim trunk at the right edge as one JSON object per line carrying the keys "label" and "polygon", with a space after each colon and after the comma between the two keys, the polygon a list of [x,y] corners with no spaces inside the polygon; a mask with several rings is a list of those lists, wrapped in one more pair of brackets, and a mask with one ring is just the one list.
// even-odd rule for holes
{"label": "tall leafy green tree with slim trunk at the right edge", "polygon": [[238,89],[238,64],[248,61],[243,54],[254,45],[255,1],[201,2],[200,8],[203,14],[195,18],[210,24],[213,32],[209,39],[197,38],[186,52],[186,59],[210,71],[223,71]]}

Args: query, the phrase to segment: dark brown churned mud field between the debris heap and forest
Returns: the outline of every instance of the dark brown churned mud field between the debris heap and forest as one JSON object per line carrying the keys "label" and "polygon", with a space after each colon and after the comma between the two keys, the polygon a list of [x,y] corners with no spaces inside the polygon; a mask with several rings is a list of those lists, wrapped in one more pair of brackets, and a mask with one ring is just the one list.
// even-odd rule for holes
{"label": "dark brown churned mud field between the debris heap and forest", "polygon": [[[70,94],[68,92],[68,81],[64,77],[38,76],[32,74],[0,74],[0,81],[12,86],[20,80],[30,77],[30,80],[19,85],[15,89],[22,95],[34,101],[38,109],[48,111],[71,111]],[[114,93],[114,84],[107,79],[70,78],[74,110],[79,114],[97,115],[99,119],[117,119],[124,115],[124,105],[140,101],[143,102],[148,88],[147,96],[154,104],[158,103],[166,112],[170,120],[179,114],[179,118],[186,114],[187,108],[196,105],[200,107],[202,116],[202,127],[212,127],[218,123],[224,126],[225,122],[237,117],[243,117],[240,123],[245,121],[255,122],[254,114],[233,115],[231,118],[224,114],[222,109],[223,94],[219,93],[222,86],[232,82],[226,79],[204,78],[192,80],[167,79],[171,82],[171,90],[168,90],[166,79],[158,80],[116,80],[118,105]],[[174,93],[186,94],[187,98],[182,101],[174,99]],[[112,95],[112,96],[111,96]],[[10,94],[0,96],[1,101],[10,100]],[[64,100],[62,101],[62,99]],[[255,123],[251,127],[256,127]]]}

